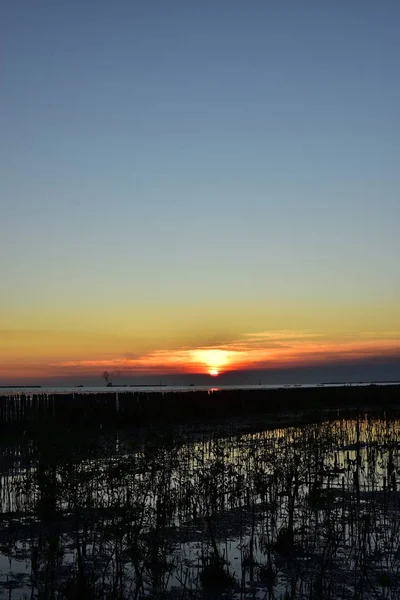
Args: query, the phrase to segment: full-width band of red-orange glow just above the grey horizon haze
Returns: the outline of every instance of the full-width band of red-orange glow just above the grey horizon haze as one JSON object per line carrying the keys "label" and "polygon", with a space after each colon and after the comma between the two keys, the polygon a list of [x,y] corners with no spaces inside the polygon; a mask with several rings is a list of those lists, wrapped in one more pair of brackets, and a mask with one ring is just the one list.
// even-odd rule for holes
{"label": "full-width band of red-orange glow just above the grey horizon haze", "polygon": [[310,331],[276,330],[253,332],[218,346],[155,349],[134,353],[118,353],[115,348],[101,354],[87,350],[73,358],[62,358],[62,353],[36,355],[29,361],[15,355],[4,356],[0,364],[0,381],[19,379],[40,380],[45,377],[101,377],[104,370],[134,377],[193,373],[221,375],[226,372],[249,369],[282,369],[304,366],[324,366],[335,362],[361,359],[400,359],[399,332],[365,332],[351,337],[343,334],[313,333]]}

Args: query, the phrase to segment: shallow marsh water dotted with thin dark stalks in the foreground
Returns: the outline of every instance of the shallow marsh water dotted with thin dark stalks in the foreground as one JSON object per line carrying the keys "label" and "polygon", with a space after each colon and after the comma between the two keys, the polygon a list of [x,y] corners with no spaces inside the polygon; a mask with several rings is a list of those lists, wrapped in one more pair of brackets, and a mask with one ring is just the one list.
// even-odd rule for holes
{"label": "shallow marsh water dotted with thin dark stalks in the foreground", "polygon": [[217,559],[238,600],[400,597],[399,419],[58,432],[3,445],[0,471],[4,598],[75,597],[79,577],[87,597],[196,598]]}

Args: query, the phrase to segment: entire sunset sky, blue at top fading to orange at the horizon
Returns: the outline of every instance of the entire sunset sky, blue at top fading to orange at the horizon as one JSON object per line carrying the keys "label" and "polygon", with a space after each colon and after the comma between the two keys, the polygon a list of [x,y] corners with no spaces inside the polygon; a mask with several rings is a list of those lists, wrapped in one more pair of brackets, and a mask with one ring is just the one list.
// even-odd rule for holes
{"label": "entire sunset sky, blue at top fading to orange at the horizon", "polygon": [[0,383],[400,379],[397,0],[1,13]]}

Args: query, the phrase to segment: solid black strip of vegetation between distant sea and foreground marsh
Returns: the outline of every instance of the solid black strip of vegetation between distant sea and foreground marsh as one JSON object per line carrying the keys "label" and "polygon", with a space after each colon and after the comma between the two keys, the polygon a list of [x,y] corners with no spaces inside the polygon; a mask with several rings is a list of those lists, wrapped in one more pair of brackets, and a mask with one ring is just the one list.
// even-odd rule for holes
{"label": "solid black strip of vegetation between distant sea and foreground marsh", "polygon": [[114,429],[190,423],[209,419],[254,418],[286,412],[396,407],[400,385],[281,388],[190,392],[105,391],[0,396],[0,433],[31,434],[48,428]]}

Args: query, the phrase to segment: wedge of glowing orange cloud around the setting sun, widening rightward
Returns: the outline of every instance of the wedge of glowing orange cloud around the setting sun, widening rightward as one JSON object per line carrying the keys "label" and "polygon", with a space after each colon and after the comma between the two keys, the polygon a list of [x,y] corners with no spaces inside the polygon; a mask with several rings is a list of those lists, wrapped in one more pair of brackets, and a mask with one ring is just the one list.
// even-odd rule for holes
{"label": "wedge of glowing orange cloud around the setting sun, widening rightward", "polygon": [[125,352],[104,359],[64,361],[52,365],[56,370],[96,373],[107,369],[124,374],[205,373],[210,367],[222,371],[279,369],[329,364],[358,359],[400,356],[397,332],[369,332],[348,338],[332,339],[328,334],[310,331],[251,332],[220,345],[154,350],[138,355]]}

